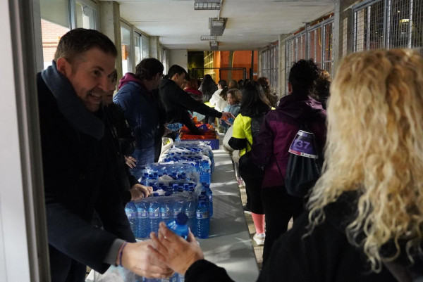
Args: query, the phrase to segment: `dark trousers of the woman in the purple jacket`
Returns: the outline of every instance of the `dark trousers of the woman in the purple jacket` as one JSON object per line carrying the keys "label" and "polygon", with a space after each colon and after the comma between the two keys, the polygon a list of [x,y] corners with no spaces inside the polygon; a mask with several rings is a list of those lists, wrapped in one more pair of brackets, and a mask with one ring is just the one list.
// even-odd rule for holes
{"label": "dark trousers of the woman in the purple jacket", "polygon": [[284,186],[262,188],[266,220],[266,239],[263,248],[263,265],[269,258],[271,246],[288,230],[290,218],[295,219],[304,211],[304,200],[290,196]]}

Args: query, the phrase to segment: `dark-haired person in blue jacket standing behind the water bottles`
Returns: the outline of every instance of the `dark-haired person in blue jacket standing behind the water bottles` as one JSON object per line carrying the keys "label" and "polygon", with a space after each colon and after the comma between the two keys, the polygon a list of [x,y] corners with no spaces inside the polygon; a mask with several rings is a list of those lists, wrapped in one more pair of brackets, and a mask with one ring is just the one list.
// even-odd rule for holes
{"label": "dark-haired person in blue jacket standing behind the water bottles", "polygon": [[166,112],[161,104],[157,86],[164,67],[155,58],[145,58],[137,65],[135,74],[128,72],[120,80],[114,103],[121,105],[125,119],[135,136],[135,167],[132,174],[140,178],[141,168],[159,159],[161,136],[165,129]]}

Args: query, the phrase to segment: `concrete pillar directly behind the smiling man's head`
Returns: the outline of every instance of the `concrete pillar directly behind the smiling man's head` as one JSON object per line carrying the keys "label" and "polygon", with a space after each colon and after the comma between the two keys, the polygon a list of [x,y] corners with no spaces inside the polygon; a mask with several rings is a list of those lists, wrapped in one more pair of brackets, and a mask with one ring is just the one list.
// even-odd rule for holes
{"label": "concrete pillar directly behind the smiling man's head", "polygon": [[104,33],[114,42],[118,49],[116,70],[118,79],[122,73],[122,41],[121,41],[121,11],[116,1],[99,1],[100,32]]}

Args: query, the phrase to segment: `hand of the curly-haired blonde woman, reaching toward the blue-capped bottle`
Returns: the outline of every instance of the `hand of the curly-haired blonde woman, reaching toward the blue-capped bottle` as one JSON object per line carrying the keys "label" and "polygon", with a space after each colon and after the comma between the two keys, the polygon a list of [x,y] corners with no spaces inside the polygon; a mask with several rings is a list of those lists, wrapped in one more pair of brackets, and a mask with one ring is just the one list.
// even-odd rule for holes
{"label": "hand of the curly-haired blonde woman, reaching toward the blue-capped bottle", "polygon": [[149,248],[157,252],[157,258],[180,274],[185,275],[191,264],[204,259],[200,245],[195,241],[191,232],[188,235],[188,241],[185,241],[170,231],[164,222],[160,222],[158,237],[151,233],[150,238],[152,238],[154,248],[152,246]]}

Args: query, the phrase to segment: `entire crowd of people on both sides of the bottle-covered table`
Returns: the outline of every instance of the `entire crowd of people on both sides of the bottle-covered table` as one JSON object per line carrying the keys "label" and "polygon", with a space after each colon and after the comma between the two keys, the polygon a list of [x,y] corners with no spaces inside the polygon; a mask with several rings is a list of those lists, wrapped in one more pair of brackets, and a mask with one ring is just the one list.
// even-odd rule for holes
{"label": "entire crowd of people on both sides of the bottle-covered table", "polygon": [[[213,124],[218,118],[228,150],[239,152],[235,176],[245,184],[253,239],[264,245],[257,281],[422,279],[417,51],[353,53],[333,82],[312,60],[299,60],[280,99],[266,77],[216,85],[206,75],[197,87],[179,65],[164,76],[155,58],[126,73],[113,96],[117,55],[104,34],[75,29],[37,74],[51,281],[84,281],[87,265],[100,273],[115,265],[149,278],[177,271],[187,282],[232,281],[204,259],[192,233],[184,240],[161,223],[151,240],[135,241],[123,208],[152,193],[137,179],[142,165],[157,162],[161,137],[174,138],[166,124],[202,134],[192,112]],[[287,193],[284,180],[303,124],[324,157],[321,177],[304,198]]]}

